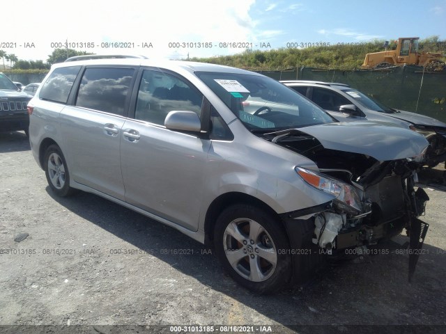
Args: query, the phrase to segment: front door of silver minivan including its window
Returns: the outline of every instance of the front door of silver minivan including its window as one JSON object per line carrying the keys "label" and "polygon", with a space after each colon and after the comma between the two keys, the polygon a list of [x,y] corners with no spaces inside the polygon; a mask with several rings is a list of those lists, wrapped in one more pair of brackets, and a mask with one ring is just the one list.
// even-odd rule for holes
{"label": "front door of silver minivan including its window", "polygon": [[196,231],[210,140],[164,127],[169,111],[201,114],[203,96],[188,81],[144,70],[134,120],[121,133],[125,200]]}

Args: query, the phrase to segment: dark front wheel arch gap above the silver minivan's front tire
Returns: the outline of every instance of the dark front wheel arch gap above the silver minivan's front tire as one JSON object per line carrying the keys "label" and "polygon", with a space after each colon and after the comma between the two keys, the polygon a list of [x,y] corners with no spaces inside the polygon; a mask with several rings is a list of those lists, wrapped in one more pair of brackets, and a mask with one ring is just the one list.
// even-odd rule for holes
{"label": "dark front wheel arch gap above the silver minivan's front tire", "polygon": [[[220,213],[224,209],[226,209],[226,207],[230,207],[231,205],[236,205],[236,204],[253,205],[255,207],[259,207],[261,209],[268,211],[270,214],[277,217],[277,220],[280,221],[282,228],[286,232],[284,222],[279,217],[279,214],[277,214],[277,212],[275,212],[274,209],[272,209],[268,204],[266,204],[266,202],[263,202],[262,200],[259,200],[259,198],[255,198],[254,196],[248,195],[246,193],[239,193],[233,191],[218,196],[217,198],[215,198],[215,200],[213,200],[213,202],[208,207],[208,211],[206,212],[206,217],[204,221],[205,244],[207,245],[213,244],[215,222],[217,221],[217,218],[220,215]],[[289,238],[287,232],[286,232],[286,237]]]}

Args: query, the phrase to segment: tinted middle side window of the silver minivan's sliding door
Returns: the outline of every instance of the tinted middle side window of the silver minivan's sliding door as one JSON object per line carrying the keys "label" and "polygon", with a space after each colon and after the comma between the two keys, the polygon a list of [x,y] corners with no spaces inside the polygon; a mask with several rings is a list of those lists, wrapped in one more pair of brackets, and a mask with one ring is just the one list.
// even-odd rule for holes
{"label": "tinted middle side window of the silver minivan's sliding door", "polygon": [[76,106],[123,115],[132,68],[89,67],[82,77]]}

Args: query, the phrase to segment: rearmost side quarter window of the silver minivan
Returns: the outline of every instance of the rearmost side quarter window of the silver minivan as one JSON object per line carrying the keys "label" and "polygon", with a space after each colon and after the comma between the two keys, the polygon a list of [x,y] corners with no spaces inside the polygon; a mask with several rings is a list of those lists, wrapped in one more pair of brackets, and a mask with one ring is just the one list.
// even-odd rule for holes
{"label": "rearmost side quarter window of the silver minivan", "polygon": [[67,103],[72,84],[80,69],[80,66],[56,68],[43,83],[39,94],[40,99]]}

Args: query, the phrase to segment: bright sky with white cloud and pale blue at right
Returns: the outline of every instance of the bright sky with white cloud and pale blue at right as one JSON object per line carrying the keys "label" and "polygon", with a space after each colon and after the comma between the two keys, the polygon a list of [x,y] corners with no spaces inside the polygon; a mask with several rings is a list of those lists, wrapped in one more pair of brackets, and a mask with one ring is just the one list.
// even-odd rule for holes
{"label": "bright sky with white cloud and pale blue at right", "polygon": [[446,39],[446,0],[21,0],[1,7],[0,50],[44,62],[67,46],[184,59],[247,47]]}

